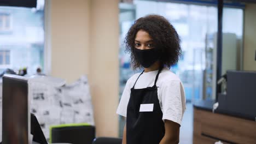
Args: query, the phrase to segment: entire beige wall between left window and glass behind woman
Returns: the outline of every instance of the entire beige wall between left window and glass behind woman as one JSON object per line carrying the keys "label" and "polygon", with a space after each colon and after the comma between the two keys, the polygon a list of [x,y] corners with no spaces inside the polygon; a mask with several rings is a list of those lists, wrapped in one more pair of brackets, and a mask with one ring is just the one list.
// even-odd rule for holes
{"label": "entire beige wall between left window and glass behind woman", "polygon": [[51,75],[88,75],[97,136],[118,136],[118,0],[53,0]]}

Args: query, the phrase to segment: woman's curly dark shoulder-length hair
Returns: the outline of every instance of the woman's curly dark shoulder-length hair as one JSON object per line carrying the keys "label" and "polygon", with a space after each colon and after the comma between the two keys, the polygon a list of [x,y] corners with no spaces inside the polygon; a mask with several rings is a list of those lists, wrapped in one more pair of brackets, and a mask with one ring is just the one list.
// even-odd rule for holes
{"label": "woman's curly dark shoulder-length hair", "polygon": [[139,30],[146,31],[153,38],[155,49],[159,49],[160,62],[170,68],[179,60],[182,53],[179,35],[165,17],[160,15],[147,15],[133,23],[124,40],[125,51],[131,53],[133,69],[141,67],[137,61],[135,49],[135,37]]}

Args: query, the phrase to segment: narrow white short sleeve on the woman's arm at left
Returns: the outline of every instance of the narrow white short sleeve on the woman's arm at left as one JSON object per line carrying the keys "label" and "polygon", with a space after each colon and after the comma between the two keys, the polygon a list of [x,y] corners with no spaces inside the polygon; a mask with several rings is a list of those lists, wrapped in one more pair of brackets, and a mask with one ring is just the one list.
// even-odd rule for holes
{"label": "narrow white short sleeve on the woman's arm at left", "polygon": [[117,113],[118,115],[126,117],[127,105],[130,99],[131,86],[130,79],[126,82],[120,103],[118,105]]}

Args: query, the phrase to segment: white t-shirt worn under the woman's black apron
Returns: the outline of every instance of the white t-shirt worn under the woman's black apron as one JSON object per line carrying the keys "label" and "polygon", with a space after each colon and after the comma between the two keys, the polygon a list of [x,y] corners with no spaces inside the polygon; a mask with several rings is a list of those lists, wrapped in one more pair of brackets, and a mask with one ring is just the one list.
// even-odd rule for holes
{"label": "white t-shirt worn under the woman's black apron", "polygon": [[[131,88],[139,74],[130,77],[126,82],[117,113],[126,117],[127,105],[130,99]],[[154,86],[155,76],[158,70],[143,73],[136,82],[135,89]],[[162,110],[162,119],[168,119],[181,125],[183,113],[186,109],[185,92],[181,80],[169,69],[163,68],[156,81],[158,87],[158,99]]]}

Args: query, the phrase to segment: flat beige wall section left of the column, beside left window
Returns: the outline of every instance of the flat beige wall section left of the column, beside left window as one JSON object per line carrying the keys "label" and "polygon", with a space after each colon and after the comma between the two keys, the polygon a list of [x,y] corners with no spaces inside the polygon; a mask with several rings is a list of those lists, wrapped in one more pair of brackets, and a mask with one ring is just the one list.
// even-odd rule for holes
{"label": "flat beige wall section left of the column, beside left window", "polygon": [[51,1],[51,75],[73,82],[89,74],[90,1]]}

